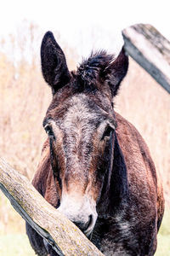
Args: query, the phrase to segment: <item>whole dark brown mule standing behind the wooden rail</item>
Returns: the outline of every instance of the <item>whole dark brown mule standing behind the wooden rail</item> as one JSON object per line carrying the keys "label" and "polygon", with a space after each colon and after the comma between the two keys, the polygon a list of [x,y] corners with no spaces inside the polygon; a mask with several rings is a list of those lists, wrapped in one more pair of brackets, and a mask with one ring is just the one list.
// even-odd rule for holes
{"label": "whole dark brown mule standing behind the wooden rail", "polygon": [[[41,60],[53,99],[32,184],[105,255],[153,255],[164,211],[161,183],[139,131],[114,111],[127,54],[101,50],[70,72],[47,32]],[[29,224],[26,230],[38,255],[58,255]]]}

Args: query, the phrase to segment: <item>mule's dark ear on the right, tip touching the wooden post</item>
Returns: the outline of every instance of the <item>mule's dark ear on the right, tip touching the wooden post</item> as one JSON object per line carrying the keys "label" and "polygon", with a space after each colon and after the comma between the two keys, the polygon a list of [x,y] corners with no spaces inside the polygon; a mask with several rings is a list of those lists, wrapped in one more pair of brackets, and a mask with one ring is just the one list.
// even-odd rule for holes
{"label": "mule's dark ear on the right, tip touching the wooden post", "polygon": [[122,79],[127,74],[128,56],[122,48],[116,60],[105,68],[105,79],[111,87],[112,96],[116,96],[117,90],[122,82]]}

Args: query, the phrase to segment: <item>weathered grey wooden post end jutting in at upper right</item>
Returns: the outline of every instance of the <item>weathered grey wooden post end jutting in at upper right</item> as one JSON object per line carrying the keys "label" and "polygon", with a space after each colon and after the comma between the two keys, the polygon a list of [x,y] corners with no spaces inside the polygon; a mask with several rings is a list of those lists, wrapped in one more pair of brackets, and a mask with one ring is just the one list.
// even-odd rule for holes
{"label": "weathered grey wooden post end jutting in at upper right", "polygon": [[154,26],[137,24],[122,31],[127,53],[170,93],[170,42]]}

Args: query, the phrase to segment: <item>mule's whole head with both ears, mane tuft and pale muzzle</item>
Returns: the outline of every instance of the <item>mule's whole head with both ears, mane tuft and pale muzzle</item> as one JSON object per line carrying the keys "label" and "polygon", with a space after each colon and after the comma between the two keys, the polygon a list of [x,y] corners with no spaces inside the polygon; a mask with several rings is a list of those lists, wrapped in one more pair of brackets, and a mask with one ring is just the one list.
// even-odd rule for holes
{"label": "mule's whole head with both ears, mane tuft and pale muzzle", "polygon": [[53,91],[43,121],[50,142],[51,166],[59,189],[59,211],[89,236],[96,206],[109,189],[113,162],[113,97],[127,73],[122,49],[116,59],[92,54],[70,73],[51,32],[42,39],[42,74]]}

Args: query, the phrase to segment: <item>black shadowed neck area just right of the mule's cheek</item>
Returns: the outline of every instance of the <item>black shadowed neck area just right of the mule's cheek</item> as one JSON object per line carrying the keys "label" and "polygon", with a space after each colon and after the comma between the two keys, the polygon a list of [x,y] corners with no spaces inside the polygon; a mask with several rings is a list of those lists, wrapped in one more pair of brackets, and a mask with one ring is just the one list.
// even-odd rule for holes
{"label": "black shadowed neck area just right of the mule's cheek", "polygon": [[104,186],[97,206],[99,217],[113,216],[125,207],[128,198],[127,166],[116,132],[111,140],[110,162],[107,163]]}

